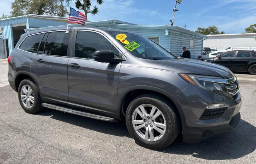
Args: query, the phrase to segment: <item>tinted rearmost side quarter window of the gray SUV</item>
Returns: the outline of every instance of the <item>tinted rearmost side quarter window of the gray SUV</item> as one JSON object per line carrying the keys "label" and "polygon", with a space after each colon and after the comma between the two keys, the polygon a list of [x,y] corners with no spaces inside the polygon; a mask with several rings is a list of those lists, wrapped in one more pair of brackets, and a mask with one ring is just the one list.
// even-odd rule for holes
{"label": "tinted rearmost side quarter window of the gray SUV", "polygon": [[32,36],[28,36],[20,45],[20,49],[32,53],[36,53],[39,43],[42,40],[44,34],[36,34]]}

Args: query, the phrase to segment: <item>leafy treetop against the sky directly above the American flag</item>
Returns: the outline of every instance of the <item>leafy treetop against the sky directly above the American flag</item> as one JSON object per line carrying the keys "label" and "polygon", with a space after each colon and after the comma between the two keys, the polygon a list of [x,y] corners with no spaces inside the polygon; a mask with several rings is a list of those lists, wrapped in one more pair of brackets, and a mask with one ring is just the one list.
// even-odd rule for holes
{"label": "leafy treetop against the sky directly above the American flag", "polygon": [[[91,0],[82,0],[82,1],[83,1],[83,4],[81,3],[81,0],[76,0],[75,4],[76,4],[76,8],[80,10],[84,10],[84,14],[86,15],[86,17],[88,13],[95,15],[99,12],[99,9],[96,5],[91,10],[90,8],[92,6]],[[103,0],[97,0],[96,2],[97,4],[101,5],[103,3]]]}

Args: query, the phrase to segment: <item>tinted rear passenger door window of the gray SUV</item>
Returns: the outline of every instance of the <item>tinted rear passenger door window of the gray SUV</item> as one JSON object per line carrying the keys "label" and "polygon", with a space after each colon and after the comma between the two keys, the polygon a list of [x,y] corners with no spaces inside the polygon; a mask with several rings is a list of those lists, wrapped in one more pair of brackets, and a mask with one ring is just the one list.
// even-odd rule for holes
{"label": "tinted rear passenger door window of the gray SUV", "polygon": [[70,34],[66,34],[64,31],[49,32],[44,47],[44,54],[66,56]]}

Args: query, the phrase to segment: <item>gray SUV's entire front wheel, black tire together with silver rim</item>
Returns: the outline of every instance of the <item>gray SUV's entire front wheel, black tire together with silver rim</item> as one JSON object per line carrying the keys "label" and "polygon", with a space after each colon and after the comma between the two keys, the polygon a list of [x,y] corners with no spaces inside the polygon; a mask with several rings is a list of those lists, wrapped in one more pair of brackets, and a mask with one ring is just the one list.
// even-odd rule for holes
{"label": "gray SUV's entire front wheel, black tire together with silver rim", "polygon": [[[146,115],[149,118],[151,117],[150,119],[146,117],[148,119],[146,122],[143,112],[140,109],[141,107],[145,109]],[[154,115],[150,116],[154,107],[156,107],[154,112],[152,112],[154,115],[158,115],[158,110],[161,112],[161,115],[156,118],[154,118]],[[137,111],[140,111],[141,113],[139,114]],[[141,115],[143,115],[144,118],[141,117]],[[139,124],[133,124],[133,121],[135,123],[135,121],[139,120]],[[165,129],[164,126],[159,128],[159,123],[161,123],[161,125],[165,124]],[[140,128],[140,125],[143,127]],[[167,147],[177,138],[180,132],[180,119],[175,107],[168,103],[163,97],[159,95],[145,94],[136,97],[128,106],[126,111],[126,126],[137,144],[145,148],[157,150]],[[140,128],[139,130],[137,130],[137,126]],[[158,130],[160,129],[160,131],[158,132],[158,130],[155,130],[156,128],[158,128]],[[164,130],[165,132],[163,133]],[[158,134],[160,135],[158,136]],[[154,139],[151,138],[151,136],[153,136]]]}

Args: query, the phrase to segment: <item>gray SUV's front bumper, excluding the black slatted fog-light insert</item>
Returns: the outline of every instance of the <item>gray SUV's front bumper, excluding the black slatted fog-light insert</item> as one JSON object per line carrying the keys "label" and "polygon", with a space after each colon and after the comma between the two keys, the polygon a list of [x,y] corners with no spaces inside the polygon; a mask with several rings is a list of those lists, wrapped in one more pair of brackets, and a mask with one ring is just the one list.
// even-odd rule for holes
{"label": "gray SUV's front bumper, excluding the black slatted fog-light insert", "polygon": [[[234,130],[240,122],[240,93],[232,96],[228,93],[214,93],[199,87],[189,86],[178,95],[182,104],[184,120],[182,132],[184,142],[196,143],[201,140]],[[225,103],[229,107],[217,118],[200,119],[206,107],[212,103]]]}

